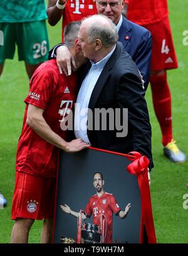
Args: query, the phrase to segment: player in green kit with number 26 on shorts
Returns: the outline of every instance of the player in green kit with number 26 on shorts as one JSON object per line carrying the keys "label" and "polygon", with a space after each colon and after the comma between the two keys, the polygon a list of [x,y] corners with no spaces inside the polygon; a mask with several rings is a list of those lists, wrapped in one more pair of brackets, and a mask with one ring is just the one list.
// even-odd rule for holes
{"label": "player in green kit with number 26 on shorts", "polygon": [[0,47],[0,75],[4,60],[14,57],[15,44],[29,78],[39,64],[48,59],[46,18],[44,0],[1,0],[0,30],[3,31],[4,44]]}

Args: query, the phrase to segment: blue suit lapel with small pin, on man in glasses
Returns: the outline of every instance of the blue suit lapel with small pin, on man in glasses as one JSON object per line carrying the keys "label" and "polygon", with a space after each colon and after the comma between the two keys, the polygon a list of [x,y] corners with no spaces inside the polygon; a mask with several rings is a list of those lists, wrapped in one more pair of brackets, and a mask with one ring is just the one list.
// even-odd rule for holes
{"label": "blue suit lapel with small pin, on man in glasses", "polygon": [[122,42],[124,47],[126,47],[128,42],[130,42],[130,38],[132,36],[132,27],[130,26],[129,23],[130,21],[123,17],[122,26],[120,26],[120,30],[118,31],[118,41]]}

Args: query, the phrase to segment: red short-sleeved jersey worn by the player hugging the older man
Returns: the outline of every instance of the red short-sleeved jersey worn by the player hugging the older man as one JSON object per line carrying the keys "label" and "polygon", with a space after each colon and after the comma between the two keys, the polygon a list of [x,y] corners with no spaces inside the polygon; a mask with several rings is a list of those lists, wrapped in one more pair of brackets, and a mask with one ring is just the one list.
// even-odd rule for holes
{"label": "red short-sleeved jersey worn by the player hugging the older man", "polygon": [[[66,139],[65,117],[76,98],[76,75],[60,75],[56,60],[41,64],[30,81],[29,94],[24,100],[44,109],[43,117],[51,130]],[[41,177],[56,177],[59,148],[37,135],[26,123],[28,106],[16,155],[16,170]],[[71,113],[70,113],[71,114]]]}

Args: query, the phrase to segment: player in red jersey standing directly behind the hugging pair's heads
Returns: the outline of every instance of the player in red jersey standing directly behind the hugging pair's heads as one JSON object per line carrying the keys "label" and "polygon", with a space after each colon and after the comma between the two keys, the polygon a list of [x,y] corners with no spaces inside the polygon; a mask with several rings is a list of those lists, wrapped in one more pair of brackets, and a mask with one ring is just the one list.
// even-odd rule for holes
{"label": "player in red jersey standing directly behind the hugging pair's heads", "polygon": [[[128,3],[128,0],[125,0]],[[49,0],[48,1],[48,22],[55,26],[63,16],[62,42],[64,42],[63,31],[71,21],[78,21],[86,16],[97,14],[95,0]]]}

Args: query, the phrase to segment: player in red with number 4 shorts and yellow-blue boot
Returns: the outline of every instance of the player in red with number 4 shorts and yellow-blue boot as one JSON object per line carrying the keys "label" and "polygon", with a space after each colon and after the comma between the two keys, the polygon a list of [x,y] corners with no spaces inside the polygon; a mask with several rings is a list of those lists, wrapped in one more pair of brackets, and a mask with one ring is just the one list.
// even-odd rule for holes
{"label": "player in red with number 4 shorts and yellow-blue boot", "polygon": [[155,114],[162,131],[164,154],[176,163],[185,162],[185,155],[172,135],[172,107],[168,69],[177,69],[177,57],[169,23],[167,0],[129,0],[128,19],[144,26],[152,34],[150,85]]}

